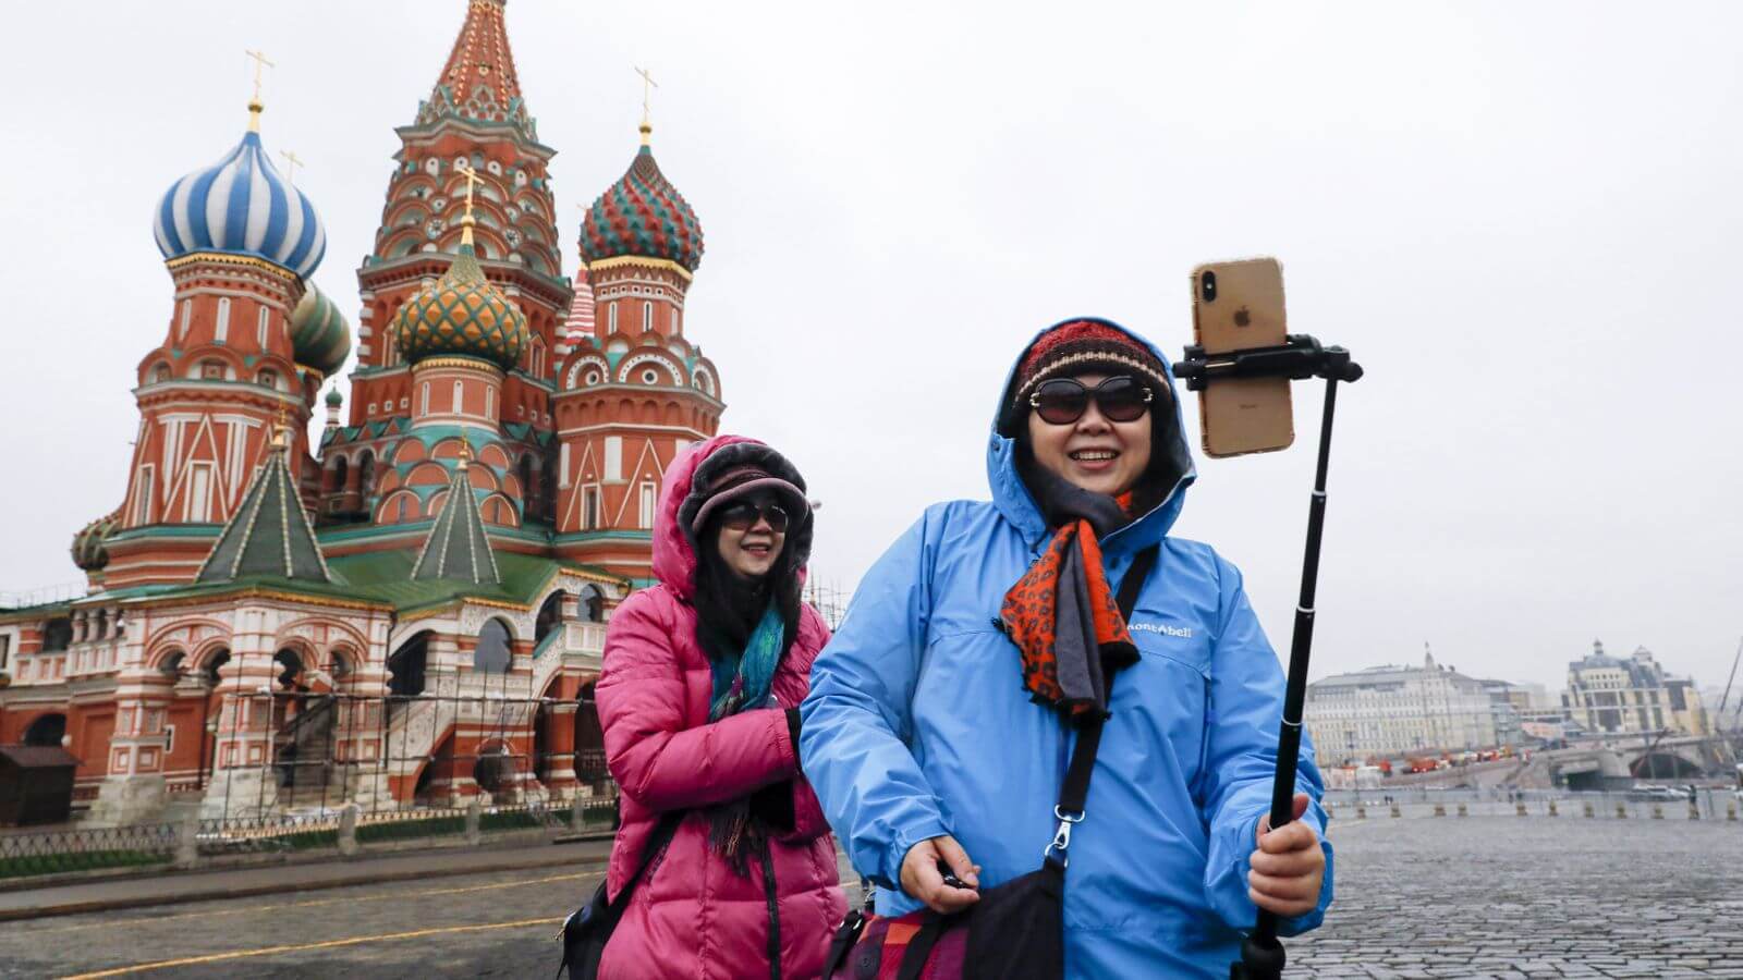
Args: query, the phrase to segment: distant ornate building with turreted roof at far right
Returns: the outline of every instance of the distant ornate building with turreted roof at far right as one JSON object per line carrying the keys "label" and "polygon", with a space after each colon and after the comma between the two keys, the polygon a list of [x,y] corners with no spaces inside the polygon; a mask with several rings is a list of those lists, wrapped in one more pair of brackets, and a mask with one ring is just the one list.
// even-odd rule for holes
{"label": "distant ornate building with turreted roof at far right", "polygon": [[1673,731],[1710,734],[1701,692],[1689,678],[1670,677],[1645,647],[1612,657],[1593,640],[1591,654],[1567,664],[1562,694],[1567,717],[1595,734]]}

